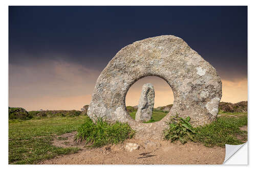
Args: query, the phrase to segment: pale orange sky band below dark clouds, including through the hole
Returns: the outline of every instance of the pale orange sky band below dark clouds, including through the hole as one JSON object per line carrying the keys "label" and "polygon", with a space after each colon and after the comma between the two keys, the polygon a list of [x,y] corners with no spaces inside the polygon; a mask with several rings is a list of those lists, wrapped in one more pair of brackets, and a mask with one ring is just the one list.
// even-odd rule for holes
{"label": "pale orange sky band below dark clouds, including through the hole", "polygon": [[[42,60],[40,64],[9,64],[9,106],[28,110],[79,110],[90,104],[100,71],[62,60]],[[247,100],[247,79],[224,79],[222,99],[236,103]],[[155,88],[155,107],[172,104],[174,95],[169,85],[158,77],[137,81],[126,95],[126,106],[138,105],[143,84]]]}

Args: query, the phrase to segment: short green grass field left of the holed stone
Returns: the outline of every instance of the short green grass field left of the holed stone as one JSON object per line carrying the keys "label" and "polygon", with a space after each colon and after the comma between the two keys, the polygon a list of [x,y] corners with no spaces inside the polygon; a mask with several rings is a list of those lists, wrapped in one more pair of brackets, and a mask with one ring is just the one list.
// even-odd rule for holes
{"label": "short green grass field left of the holed stone", "polygon": [[84,116],[30,120],[9,120],[9,164],[36,164],[58,155],[78,152],[78,148],[52,145],[55,136],[77,130]]}

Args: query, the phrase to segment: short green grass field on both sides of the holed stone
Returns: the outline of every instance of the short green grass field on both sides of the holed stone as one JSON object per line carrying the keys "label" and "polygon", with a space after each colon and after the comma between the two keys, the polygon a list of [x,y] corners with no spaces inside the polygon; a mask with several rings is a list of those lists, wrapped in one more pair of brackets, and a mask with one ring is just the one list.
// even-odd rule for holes
{"label": "short green grass field on both sides of the holed stone", "polygon": [[[153,112],[152,121],[157,122],[166,114]],[[220,114],[216,122],[195,128],[199,132],[195,136],[196,142],[206,147],[225,147],[225,143],[241,144],[247,140],[247,132],[239,129],[247,125],[247,113]],[[135,118],[135,112],[131,116]],[[9,120],[9,164],[36,164],[44,159],[78,152],[78,148],[59,148],[51,143],[58,135],[77,131],[85,120],[86,116]],[[90,127],[95,129],[94,126]],[[108,129],[112,131],[115,127]]]}

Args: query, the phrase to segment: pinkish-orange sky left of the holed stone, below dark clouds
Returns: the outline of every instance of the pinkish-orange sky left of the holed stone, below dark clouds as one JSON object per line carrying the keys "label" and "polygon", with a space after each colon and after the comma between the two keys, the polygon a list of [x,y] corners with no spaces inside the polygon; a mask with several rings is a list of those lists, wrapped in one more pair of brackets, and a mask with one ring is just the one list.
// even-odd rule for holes
{"label": "pinkish-orange sky left of the holed stone, below dark clouds", "polygon": [[[27,66],[9,64],[9,106],[38,110],[51,109],[55,103],[55,109],[77,109],[90,103],[83,96],[91,96],[99,74],[98,70],[65,61],[50,60]],[[78,102],[78,99],[83,100]]]}

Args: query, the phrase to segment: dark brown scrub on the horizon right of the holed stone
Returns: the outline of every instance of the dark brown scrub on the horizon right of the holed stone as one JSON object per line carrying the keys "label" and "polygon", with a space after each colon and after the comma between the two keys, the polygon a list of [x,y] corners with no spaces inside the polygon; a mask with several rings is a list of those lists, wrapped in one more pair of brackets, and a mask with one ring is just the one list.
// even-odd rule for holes
{"label": "dark brown scrub on the horizon right of the holed stone", "polygon": [[220,102],[219,109],[223,112],[247,112],[247,101],[235,104]]}

